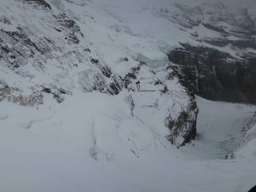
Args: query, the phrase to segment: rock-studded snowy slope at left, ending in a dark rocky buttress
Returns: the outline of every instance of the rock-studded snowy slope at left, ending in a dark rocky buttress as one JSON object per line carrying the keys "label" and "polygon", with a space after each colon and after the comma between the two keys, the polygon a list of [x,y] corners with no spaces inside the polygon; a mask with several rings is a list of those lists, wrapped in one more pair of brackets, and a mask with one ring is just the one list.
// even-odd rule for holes
{"label": "rock-studded snowy slope at left, ending in a dark rocky buttress", "polygon": [[[10,5],[12,10],[8,11]],[[149,108],[151,113],[152,103],[166,107],[160,108],[160,119],[155,117],[161,129],[173,127],[165,136],[170,135],[177,146],[195,137],[193,98],[177,83],[158,44],[144,34],[147,27],[133,34],[128,24],[120,25],[118,15],[113,17],[113,6],[99,2],[55,1],[46,5],[44,1],[3,2],[1,101],[36,107],[46,102],[47,95],[63,102],[77,90],[118,95],[127,89],[132,95],[140,80],[139,98],[152,96],[148,102],[138,102],[140,108]],[[136,106],[132,106],[132,96],[127,105],[137,107],[136,99]],[[178,123],[181,113],[189,115],[184,120],[187,125]]]}

